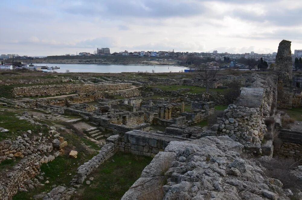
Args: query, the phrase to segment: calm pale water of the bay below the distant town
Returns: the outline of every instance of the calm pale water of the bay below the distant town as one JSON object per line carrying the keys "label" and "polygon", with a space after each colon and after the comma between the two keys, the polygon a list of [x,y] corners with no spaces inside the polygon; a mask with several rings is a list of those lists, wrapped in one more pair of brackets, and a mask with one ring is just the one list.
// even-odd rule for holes
{"label": "calm pale water of the bay below the distant town", "polygon": [[[54,64],[54,63],[34,63],[37,66],[60,67],[54,71],[59,73],[69,72],[96,72],[96,73],[120,73],[120,72],[179,72],[184,71],[185,67],[166,66],[166,65],[105,65],[105,64]],[[50,71],[50,70],[49,70]]]}

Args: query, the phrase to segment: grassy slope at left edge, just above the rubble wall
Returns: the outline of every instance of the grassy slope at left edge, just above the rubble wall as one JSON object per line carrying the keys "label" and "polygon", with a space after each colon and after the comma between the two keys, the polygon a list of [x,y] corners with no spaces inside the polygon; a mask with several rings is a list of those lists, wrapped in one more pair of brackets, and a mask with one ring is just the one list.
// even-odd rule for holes
{"label": "grassy slope at left edge, just above the rubble wall", "polygon": [[[15,117],[17,112],[13,111],[0,111],[0,127],[8,129],[8,132],[0,134],[0,140],[11,139],[14,140],[21,133],[31,130],[32,134],[45,133],[47,127],[31,124],[26,120],[19,120]],[[20,115],[20,114],[19,114]]]}

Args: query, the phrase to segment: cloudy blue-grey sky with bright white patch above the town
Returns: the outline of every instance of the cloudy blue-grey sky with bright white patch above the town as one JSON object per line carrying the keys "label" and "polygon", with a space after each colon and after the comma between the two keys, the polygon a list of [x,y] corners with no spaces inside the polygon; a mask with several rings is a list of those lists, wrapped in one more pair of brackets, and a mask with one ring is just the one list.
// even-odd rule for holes
{"label": "cloudy blue-grey sky with bright white patch above the town", "polygon": [[0,54],[302,49],[300,0],[1,0]]}

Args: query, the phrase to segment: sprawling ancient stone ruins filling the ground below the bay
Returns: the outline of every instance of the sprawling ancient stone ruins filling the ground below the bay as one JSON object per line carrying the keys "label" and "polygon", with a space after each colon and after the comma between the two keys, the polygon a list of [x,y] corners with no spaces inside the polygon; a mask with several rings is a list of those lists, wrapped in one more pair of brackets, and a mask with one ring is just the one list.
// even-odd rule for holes
{"label": "sprawling ancient stone ruins filling the ground below the bay", "polygon": [[[21,110],[22,114],[14,114],[15,120],[45,130],[38,134],[28,130],[0,141],[0,161],[16,162],[1,170],[0,199],[47,184],[41,166],[58,156],[67,153],[70,159],[78,159],[81,152],[68,148],[75,139],[61,136],[68,130],[99,150],[78,163],[69,185],[54,185],[34,199],[80,199],[77,193],[90,184],[91,175],[104,163],[113,162],[119,152],[153,158],[123,200],[302,199],[299,189],[284,187],[263,165],[277,158],[293,159],[295,164],[302,160],[302,124],[288,125],[289,116],[279,110],[302,107],[302,78],[292,70],[290,41],[280,42],[275,64],[269,74],[217,78],[216,89],[240,85],[238,96],[191,93],[190,87],[203,85],[198,78],[182,75],[77,76],[59,84],[13,87],[12,98],[0,98],[0,110]],[[187,87],[169,90],[172,85]],[[217,105],[226,107],[219,111]],[[47,125],[48,121],[60,126]],[[75,127],[80,125],[82,133],[77,134]],[[0,127],[0,134],[9,131],[5,123]],[[302,166],[293,169],[293,174],[302,180]]]}

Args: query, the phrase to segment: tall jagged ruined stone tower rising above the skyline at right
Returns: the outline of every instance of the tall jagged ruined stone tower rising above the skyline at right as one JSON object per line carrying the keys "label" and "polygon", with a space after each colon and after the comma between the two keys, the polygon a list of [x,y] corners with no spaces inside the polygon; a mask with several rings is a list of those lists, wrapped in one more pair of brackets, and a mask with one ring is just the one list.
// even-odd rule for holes
{"label": "tall jagged ruined stone tower rising above the skyline at right", "polygon": [[291,41],[279,43],[275,71],[278,73],[278,108],[291,108],[293,102],[293,64],[291,60]]}

